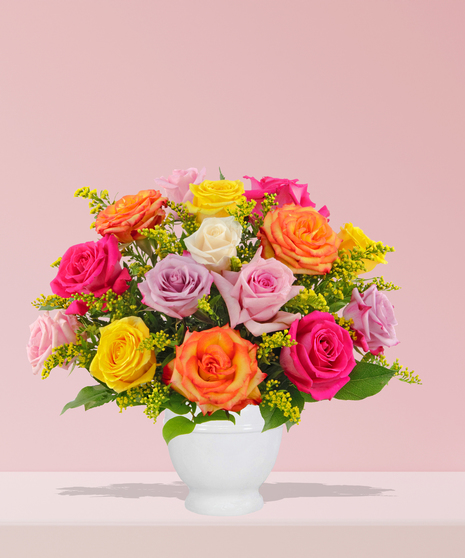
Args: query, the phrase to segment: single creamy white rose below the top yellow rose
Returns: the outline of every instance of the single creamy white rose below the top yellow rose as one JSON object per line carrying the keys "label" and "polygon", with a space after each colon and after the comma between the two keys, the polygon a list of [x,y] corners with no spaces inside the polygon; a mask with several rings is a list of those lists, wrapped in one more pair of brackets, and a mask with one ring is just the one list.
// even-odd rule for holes
{"label": "single creamy white rose below the top yellow rose", "polygon": [[241,236],[242,227],[234,217],[207,217],[184,242],[196,262],[219,272],[229,268]]}

